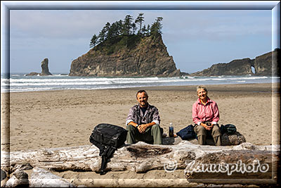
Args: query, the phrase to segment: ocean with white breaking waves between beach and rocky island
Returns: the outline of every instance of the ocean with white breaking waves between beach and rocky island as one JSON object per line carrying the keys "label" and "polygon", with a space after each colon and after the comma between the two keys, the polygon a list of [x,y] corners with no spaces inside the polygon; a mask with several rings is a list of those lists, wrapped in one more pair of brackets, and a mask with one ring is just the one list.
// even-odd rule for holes
{"label": "ocean with white breaking waves between beach and rocky island", "polygon": [[10,75],[1,75],[1,92],[273,82],[280,82],[280,77],[254,75],[212,77],[74,77],[59,73],[51,76],[25,76],[25,73],[11,73]]}

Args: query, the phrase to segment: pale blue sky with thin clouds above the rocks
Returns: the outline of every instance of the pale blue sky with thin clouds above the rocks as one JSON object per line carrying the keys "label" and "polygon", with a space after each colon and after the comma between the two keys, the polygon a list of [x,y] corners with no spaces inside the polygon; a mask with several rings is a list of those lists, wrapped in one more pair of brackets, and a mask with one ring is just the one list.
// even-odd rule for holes
{"label": "pale blue sky with thin clouds above the rocks", "polygon": [[[48,10],[46,5],[50,3],[35,2],[40,8],[10,10],[8,35],[1,21],[1,40],[10,36],[11,73],[41,73],[44,58],[48,58],[51,73],[69,73],[72,61],[90,50],[91,37],[98,35],[107,22],[124,20],[126,15],[136,19],[139,13],[143,13],[145,25],[152,25],[157,17],[163,18],[163,42],[176,68],[185,73],[195,73],[216,63],[256,58],[280,48],[280,43],[273,46],[272,42],[271,10],[85,10],[84,6],[79,9],[84,1],[73,5],[77,10]],[[1,54],[6,50],[2,46]]]}

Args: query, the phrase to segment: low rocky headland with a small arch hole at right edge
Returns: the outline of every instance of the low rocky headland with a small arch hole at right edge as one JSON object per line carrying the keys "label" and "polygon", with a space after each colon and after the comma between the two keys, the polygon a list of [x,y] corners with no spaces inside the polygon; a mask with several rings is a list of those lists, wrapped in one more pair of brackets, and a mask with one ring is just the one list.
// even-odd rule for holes
{"label": "low rocky headland with a small arch hole at right edge", "polygon": [[[280,75],[278,61],[280,49],[275,49],[254,59],[243,58],[230,63],[217,63],[210,68],[191,73],[191,76],[221,76],[221,75]],[[254,68],[254,73],[251,68]]]}

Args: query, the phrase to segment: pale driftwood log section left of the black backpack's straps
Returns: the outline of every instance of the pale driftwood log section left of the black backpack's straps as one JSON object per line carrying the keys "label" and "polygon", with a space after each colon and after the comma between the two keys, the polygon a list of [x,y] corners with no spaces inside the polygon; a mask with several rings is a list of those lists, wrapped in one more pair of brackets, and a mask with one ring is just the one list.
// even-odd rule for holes
{"label": "pale driftwood log section left of the black backpack's straps", "polygon": [[1,152],[2,169],[14,172],[28,165],[53,170],[91,170],[90,165],[98,161],[96,146],[86,145],[66,148],[39,149],[31,151]]}

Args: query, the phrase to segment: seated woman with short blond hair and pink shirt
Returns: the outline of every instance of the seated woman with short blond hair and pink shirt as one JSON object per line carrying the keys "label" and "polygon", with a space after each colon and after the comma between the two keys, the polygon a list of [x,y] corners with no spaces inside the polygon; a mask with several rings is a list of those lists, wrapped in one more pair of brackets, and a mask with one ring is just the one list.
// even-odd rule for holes
{"label": "seated woman with short blond hair and pink shirt", "polygon": [[218,105],[207,96],[205,86],[197,87],[198,100],[192,105],[192,120],[197,134],[198,144],[206,143],[207,135],[211,134],[216,146],[221,146],[221,131],[218,127]]}

